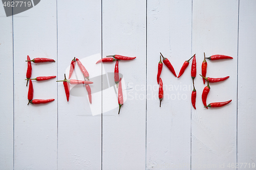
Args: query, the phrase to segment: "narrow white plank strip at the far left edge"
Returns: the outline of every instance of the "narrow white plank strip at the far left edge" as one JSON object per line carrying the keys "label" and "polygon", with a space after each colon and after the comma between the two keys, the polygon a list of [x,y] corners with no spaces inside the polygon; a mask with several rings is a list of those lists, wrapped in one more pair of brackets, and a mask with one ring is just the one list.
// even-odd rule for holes
{"label": "narrow white plank strip at the far left edge", "polygon": [[0,167],[13,169],[13,39],[12,16],[0,9]]}

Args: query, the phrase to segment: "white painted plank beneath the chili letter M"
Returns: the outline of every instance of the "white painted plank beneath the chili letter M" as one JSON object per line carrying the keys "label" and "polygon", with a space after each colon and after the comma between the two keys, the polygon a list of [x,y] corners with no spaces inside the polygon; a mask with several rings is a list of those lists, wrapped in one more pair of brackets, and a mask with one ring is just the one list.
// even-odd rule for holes
{"label": "white painted plank beneath the chili letter M", "polygon": [[191,62],[179,79],[163,64],[161,108],[157,72],[160,52],[177,76],[191,57],[191,7],[191,1],[148,2],[147,169],[190,169]]}

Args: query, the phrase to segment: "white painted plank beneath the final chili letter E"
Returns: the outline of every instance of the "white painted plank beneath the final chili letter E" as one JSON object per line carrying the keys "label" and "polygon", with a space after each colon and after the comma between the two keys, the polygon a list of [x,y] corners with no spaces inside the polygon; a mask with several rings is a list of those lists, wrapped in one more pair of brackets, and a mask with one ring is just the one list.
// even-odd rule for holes
{"label": "white painted plank beneath the final chili letter E", "polygon": [[[237,153],[237,47],[238,1],[193,1],[193,53],[197,54],[197,110],[192,109],[191,168],[199,166],[228,169],[228,163],[236,163]],[[226,77],[223,82],[210,83],[207,104],[232,102],[222,108],[203,107],[201,65],[203,53],[209,57],[223,54],[232,60],[207,60],[206,77]]]}

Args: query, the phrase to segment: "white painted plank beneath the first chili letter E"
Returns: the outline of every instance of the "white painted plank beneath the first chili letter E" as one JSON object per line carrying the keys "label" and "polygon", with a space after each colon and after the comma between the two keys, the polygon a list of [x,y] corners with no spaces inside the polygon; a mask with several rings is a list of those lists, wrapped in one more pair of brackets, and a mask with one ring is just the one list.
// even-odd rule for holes
{"label": "white painted plank beneath the first chili letter E", "polygon": [[[41,1],[14,17],[14,169],[57,169],[56,78],[33,81],[34,99],[55,99],[27,106],[27,55],[56,60],[56,1]],[[32,63],[32,78],[57,76],[57,63]]]}

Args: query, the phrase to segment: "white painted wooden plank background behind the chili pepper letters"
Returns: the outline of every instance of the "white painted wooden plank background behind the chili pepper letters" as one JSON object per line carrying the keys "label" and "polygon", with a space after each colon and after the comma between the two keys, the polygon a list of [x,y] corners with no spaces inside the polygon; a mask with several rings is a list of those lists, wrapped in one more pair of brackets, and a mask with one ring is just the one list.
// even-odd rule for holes
{"label": "white painted wooden plank background behind the chili pepper letters", "polygon": [[[255,9],[254,0],[41,1],[6,17],[0,7],[0,169],[236,169],[236,163],[255,169]],[[177,75],[196,54],[197,110],[190,101],[191,62],[179,79],[163,67],[159,108],[160,52]],[[207,104],[232,99],[223,108],[203,108],[204,52],[233,57],[207,60],[207,77],[230,76],[210,84]],[[67,102],[56,82],[74,57],[96,54],[137,57],[119,62],[127,92],[119,115],[114,108],[92,116],[87,95]],[[34,81],[34,98],[54,102],[27,106],[27,55],[56,60],[32,63],[32,78],[57,76]],[[97,71],[113,72],[114,65]],[[108,82],[102,77],[91,88]],[[98,110],[117,102],[115,95],[98,97]]]}

